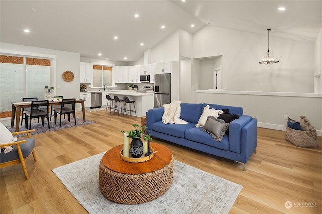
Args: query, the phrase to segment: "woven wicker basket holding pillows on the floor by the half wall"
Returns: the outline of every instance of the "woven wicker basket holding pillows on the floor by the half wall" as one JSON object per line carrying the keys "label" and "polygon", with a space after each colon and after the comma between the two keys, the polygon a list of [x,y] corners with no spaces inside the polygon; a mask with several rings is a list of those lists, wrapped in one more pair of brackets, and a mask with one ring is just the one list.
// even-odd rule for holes
{"label": "woven wicker basket holding pillows on the floor by the half wall", "polygon": [[301,131],[286,126],[286,140],[298,147],[317,148],[317,133],[313,131]]}

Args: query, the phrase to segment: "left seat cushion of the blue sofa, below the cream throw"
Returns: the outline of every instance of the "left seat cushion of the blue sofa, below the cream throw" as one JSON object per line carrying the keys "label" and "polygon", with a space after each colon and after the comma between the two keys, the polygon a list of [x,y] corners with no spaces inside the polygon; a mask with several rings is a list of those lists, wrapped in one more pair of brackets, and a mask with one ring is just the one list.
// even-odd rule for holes
{"label": "left seat cushion of the blue sofa, below the cream throw", "polygon": [[168,134],[175,137],[184,138],[185,131],[194,127],[194,123],[188,124],[164,124],[161,121],[155,122],[152,125],[152,130],[160,133]]}

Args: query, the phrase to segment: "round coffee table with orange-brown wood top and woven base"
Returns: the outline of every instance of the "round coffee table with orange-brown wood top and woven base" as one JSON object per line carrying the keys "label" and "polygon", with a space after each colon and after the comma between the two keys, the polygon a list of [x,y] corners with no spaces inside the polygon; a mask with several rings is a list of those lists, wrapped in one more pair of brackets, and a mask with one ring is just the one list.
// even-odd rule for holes
{"label": "round coffee table with orange-brown wood top and woven base", "polygon": [[99,170],[100,189],[114,202],[139,204],[163,195],[173,179],[173,156],[160,144],[150,143],[157,153],[142,163],[130,163],[121,159],[123,145],[108,150],[101,159]]}

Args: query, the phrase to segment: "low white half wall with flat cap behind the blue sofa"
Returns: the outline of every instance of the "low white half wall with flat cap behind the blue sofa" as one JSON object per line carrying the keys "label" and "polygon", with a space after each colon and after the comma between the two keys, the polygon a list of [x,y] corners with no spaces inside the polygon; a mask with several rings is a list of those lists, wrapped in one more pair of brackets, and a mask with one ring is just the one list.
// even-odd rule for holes
{"label": "low white half wall with flat cap behind the blue sofa", "polygon": [[197,103],[241,106],[244,115],[257,118],[259,127],[283,131],[284,115],[293,120],[305,115],[318,135],[322,133],[321,94],[197,90]]}

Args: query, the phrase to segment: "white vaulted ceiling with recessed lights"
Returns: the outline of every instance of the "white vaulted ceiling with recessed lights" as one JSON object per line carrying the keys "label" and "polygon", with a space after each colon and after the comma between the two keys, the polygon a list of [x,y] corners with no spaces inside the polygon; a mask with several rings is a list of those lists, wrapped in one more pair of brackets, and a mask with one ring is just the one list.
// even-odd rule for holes
{"label": "white vaulted ceiling with recessed lights", "polygon": [[270,35],[314,42],[322,1],[0,1],[1,42],[97,59],[136,61],[177,29],[193,34],[206,25],[258,34],[270,28]]}

